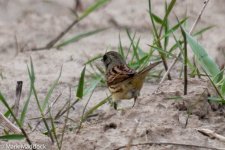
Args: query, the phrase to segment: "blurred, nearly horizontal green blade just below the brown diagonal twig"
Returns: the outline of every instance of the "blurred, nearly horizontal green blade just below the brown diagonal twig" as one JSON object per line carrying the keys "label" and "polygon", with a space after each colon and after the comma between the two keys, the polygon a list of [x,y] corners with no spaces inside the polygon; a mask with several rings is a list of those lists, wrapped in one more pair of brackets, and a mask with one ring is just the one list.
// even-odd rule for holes
{"label": "blurred, nearly horizontal green blade just below the brown diagonal twig", "polygon": [[88,36],[95,35],[95,34],[97,34],[99,32],[105,31],[106,29],[107,28],[102,28],[102,29],[97,29],[97,30],[93,30],[93,31],[89,31],[89,32],[85,32],[85,33],[81,33],[81,34],[75,35],[72,38],[67,39],[67,40],[61,42],[60,44],[56,45],[56,48],[60,48],[60,47],[69,45],[71,43],[77,42],[77,41],[79,41],[79,40],[81,40],[83,38],[86,38]]}

